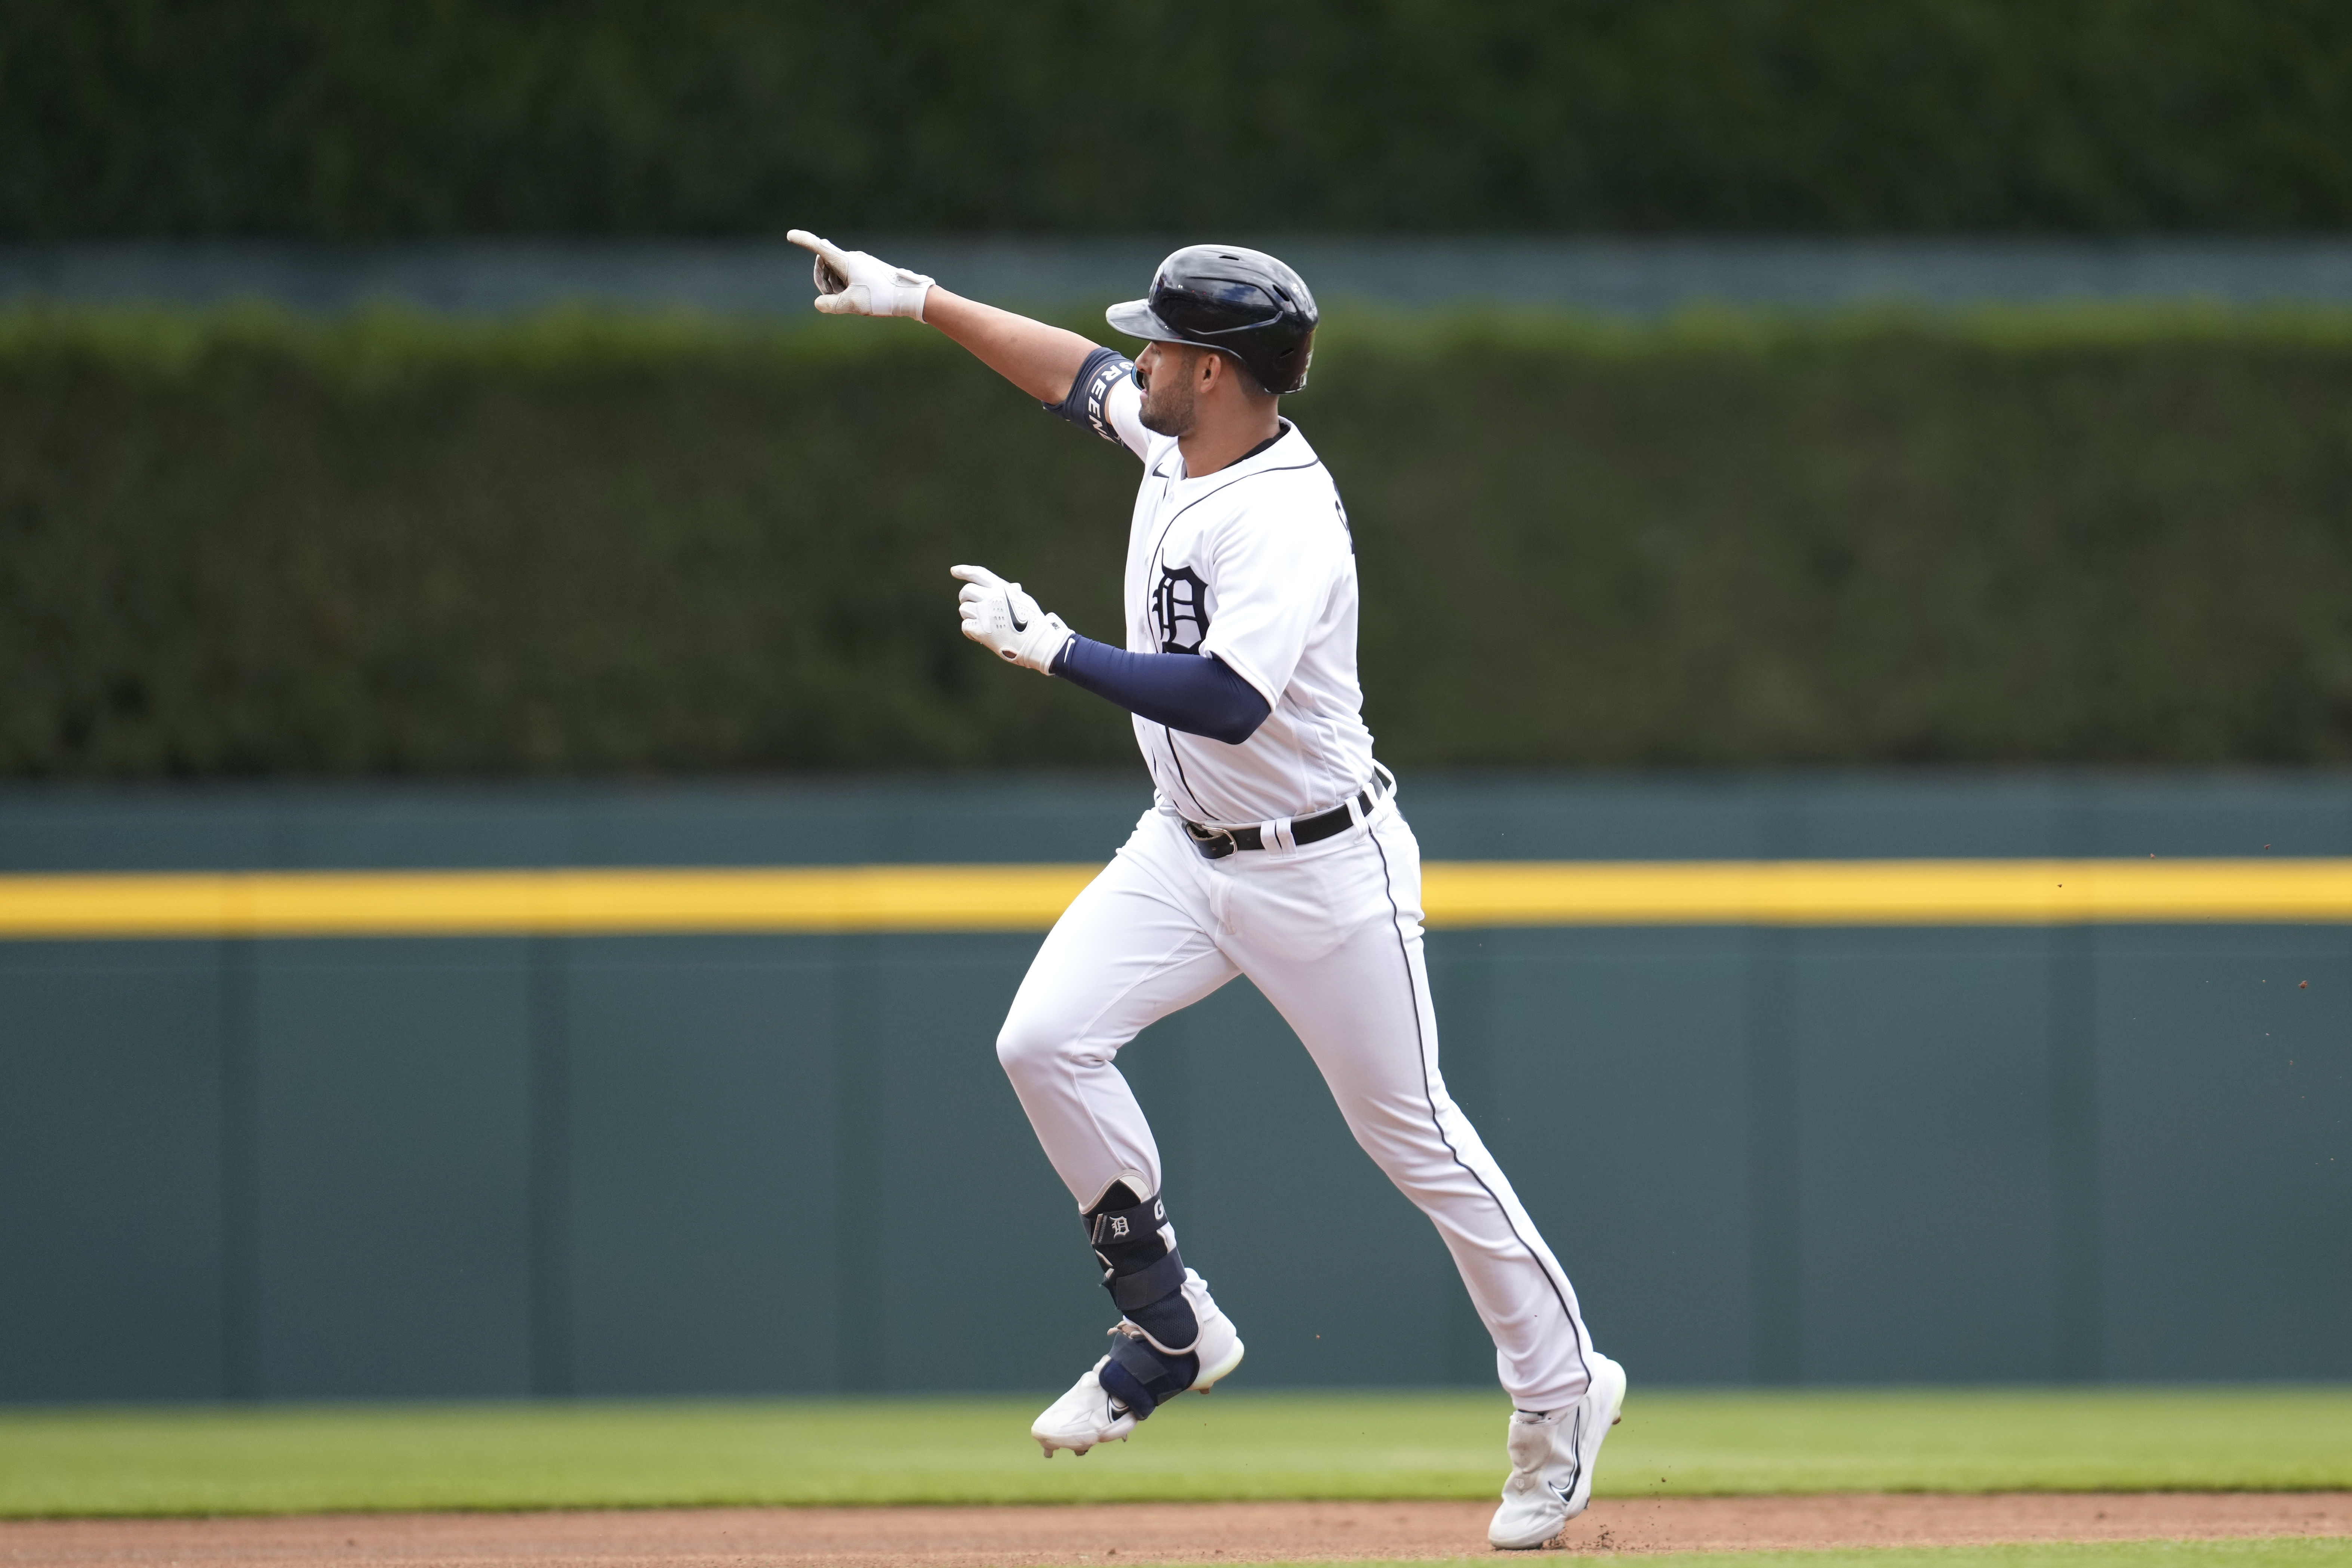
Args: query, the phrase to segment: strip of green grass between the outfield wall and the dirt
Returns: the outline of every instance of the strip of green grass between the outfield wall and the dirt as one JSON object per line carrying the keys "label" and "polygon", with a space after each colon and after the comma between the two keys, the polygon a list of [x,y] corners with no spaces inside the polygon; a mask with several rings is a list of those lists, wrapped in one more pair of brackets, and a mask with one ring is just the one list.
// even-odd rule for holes
{"label": "strip of green grass between the outfield wall and the dirt", "polygon": [[[1491,1394],[1228,1392],[1051,1462],[1037,1403],[7,1410],[0,1516],[1484,1497],[1501,1479]],[[1599,1474],[1602,1497],[2164,1488],[2352,1488],[2352,1387],[1637,1392]]]}

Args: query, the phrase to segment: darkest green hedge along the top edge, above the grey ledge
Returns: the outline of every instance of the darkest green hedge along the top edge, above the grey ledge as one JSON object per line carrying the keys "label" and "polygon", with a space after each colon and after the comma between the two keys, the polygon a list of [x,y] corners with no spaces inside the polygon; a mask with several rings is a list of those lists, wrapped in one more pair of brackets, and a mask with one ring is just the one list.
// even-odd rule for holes
{"label": "darkest green hedge along the top edge, above the grey ledge", "polygon": [[2352,226],[2340,0],[9,0],[0,235]]}

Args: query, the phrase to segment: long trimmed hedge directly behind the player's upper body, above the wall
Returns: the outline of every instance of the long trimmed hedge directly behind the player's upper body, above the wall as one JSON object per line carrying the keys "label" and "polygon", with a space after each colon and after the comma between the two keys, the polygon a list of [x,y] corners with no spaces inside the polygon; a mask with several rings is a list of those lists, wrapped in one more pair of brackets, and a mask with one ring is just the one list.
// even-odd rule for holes
{"label": "long trimmed hedge directly behind the player's upper body, above the wall", "polygon": [[[2352,317],[1348,320],[1397,764],[2347,762]],[[1068,764],[1131,461],[906,322],[0,317],[0,773]]]}

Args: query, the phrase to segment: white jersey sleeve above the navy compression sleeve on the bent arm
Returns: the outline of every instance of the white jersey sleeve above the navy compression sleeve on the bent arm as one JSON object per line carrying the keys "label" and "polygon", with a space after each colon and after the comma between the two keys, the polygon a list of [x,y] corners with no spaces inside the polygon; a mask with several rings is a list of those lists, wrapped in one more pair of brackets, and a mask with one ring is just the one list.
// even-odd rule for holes
{"label": "white jersey sleeve above the navy compression sleeve on the bent arm", "polygon": [[[1235,517],[1211,550],[1216,614],[1200,651],[1223,658],[1268,708],[1291,684],[1350,552],[1329,491],[1298,489],[1279,517],[1258,508]],[[1317,515],[1317,503],[1331,515]]]}

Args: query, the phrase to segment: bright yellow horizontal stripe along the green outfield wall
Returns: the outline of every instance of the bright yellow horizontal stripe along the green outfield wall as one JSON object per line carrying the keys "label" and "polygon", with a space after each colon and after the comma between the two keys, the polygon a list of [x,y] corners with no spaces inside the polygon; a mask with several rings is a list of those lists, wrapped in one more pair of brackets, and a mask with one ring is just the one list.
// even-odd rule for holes
{"label": "bright yellow horizontal stripe along the green outfield wall", "polygon": [[[1094,865],[0,877],[0,940],[1044,931]],[[2352,922],[2345,860],[1432,860],[1432,926]]]}

